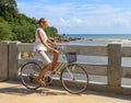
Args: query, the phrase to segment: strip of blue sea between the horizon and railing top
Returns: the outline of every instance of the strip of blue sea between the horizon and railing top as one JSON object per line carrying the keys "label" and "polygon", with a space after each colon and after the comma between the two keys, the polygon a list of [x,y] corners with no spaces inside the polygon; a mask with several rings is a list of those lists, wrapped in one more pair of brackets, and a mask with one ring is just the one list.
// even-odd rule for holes
{"label": "strip of blue sea between the horizon and railing top", "polygon": [[66,37],[79,37],[81,39],[69,42],[69,44],[95,44],[107,45],[109,43],[131,44],[131,34],[66,34]]}

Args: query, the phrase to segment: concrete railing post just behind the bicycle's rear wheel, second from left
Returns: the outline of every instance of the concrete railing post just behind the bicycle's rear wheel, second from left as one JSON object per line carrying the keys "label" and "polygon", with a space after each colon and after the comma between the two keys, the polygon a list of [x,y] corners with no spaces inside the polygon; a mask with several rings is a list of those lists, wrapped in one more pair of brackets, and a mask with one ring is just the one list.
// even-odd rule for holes
{"label": "concrete railing post just behind the bicycle's rear wheel, second from left", "polygon": [[9,44],[9,79],[17,79],[17,64],[19,64],[19,50],[17,44],[20,42],[12,42]]}

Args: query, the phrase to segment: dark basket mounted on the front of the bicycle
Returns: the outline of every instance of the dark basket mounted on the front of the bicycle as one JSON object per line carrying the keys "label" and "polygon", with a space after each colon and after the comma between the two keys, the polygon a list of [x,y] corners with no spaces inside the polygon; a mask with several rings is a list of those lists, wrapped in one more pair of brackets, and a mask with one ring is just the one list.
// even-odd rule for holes
{"label": "dark basket mounted on the front of the bicycle", "polygon": [[67,61],[68,62],[75,62],[76,61],[76,53],[66,53]]}

